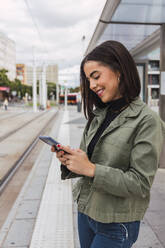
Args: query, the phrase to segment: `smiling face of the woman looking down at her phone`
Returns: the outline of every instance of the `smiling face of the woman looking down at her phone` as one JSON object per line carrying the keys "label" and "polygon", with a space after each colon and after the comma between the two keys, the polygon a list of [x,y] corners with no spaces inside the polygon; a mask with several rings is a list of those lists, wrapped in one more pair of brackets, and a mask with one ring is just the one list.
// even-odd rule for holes
{"label": "smiling face of the woman looking down at her phone", "polygon": [[102,102],[106,103],[121,97],[119,92],[120,74],[97,61],[87,61],[84,72],[94,91]]}

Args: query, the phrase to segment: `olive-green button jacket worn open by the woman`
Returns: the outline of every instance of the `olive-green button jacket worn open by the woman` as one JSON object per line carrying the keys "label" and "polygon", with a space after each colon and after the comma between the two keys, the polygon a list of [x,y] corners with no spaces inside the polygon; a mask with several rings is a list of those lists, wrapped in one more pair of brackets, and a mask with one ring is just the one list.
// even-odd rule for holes
{"label": "olive-green button jacket worn open by the woman", "polygon": [[[80,148],[85,152],[106,111],[96,109],[89,130],[84,130]],[[94,178],[83,176],[76,183],[73,196],[78,210],[103,223],[141,220],[149,204],[164,133],[159,116],[139,98],[133,101],[96,144],[91,157],[96,165]]]}

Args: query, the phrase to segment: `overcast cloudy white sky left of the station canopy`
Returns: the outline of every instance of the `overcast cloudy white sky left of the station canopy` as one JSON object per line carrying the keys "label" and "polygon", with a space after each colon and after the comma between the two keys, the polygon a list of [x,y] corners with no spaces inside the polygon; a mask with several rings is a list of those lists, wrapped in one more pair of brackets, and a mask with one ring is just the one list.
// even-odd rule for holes
{"label": "overcast cloudy white sky left of the station canopy", "polygon": [[[0,32],[16,44],[16,62],[58,64],[77,80],[79,65],[106,0],[5,0]],[[82,40],[82,37],[85,39]]]}

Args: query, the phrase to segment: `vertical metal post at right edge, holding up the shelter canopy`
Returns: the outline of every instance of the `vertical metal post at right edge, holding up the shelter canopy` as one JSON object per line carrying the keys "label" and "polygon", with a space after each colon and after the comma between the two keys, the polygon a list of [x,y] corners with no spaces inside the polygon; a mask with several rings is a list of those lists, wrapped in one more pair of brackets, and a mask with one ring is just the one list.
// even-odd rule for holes
{"label": "vertical metal post at right edge, holding up the shelter canopy", "polygon": [[165,24],[160,28],[160,98],[159,114],[165,121]]}

